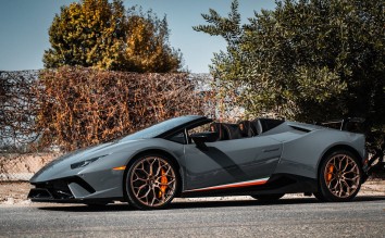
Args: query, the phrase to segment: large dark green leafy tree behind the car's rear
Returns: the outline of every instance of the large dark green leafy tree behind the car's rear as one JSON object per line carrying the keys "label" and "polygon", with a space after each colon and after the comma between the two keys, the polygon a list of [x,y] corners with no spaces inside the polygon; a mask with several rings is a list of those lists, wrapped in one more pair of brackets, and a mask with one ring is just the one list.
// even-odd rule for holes
{"label": "large dark green leafy tree behind the car's rear", "polygon": [[285,0],[240,24],[238,2],[194,27],[227,41],[211,73],[248,113],[294,120],[363,116],[385,124],[383,0]]}

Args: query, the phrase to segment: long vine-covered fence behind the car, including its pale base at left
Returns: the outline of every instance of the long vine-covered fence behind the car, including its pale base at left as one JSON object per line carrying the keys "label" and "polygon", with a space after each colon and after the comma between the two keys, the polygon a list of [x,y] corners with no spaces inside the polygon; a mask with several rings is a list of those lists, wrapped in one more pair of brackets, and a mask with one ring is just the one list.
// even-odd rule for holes
{"label": "long vine-covered fence behind the car, including its pale base at left", "polygon": [[29,179],[58,149],[103,142],[170,117],[235,122],[241,115],[234,110],[236,92],[216,85],[208,74],[0,72],[0,180]]}

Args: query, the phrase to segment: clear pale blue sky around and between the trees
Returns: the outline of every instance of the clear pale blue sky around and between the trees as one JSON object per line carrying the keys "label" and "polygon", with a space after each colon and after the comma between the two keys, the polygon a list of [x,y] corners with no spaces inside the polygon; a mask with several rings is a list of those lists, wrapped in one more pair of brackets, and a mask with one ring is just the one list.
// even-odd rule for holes
{"label": "clear pale blue sky around and between the trees", "polygon": [[[42,68],[42,53],[49,45],[48,28],[60,7],[75,0],[1,0],[0,2],[0,71]],[[208,73],[214,52],[225,50],[221,37],[192,30],[204,24],[201,13],[214,9],[222,15],[229,12],[232,0],[125,0],[126,9],[141,5],[159,17],[167,16],[171,46],[181,49],[185,65],[192,73]],[[239,0],[243,21],[253,11],[274,9],[274,0]]]}

